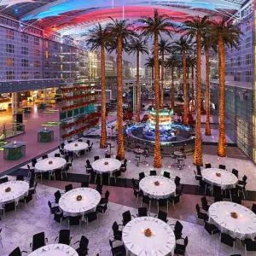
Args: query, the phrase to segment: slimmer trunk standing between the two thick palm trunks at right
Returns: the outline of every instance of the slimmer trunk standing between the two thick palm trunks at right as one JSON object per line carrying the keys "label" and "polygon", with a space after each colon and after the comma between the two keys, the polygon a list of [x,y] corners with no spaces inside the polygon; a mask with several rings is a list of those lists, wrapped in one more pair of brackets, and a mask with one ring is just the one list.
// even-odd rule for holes
{"label": "slimmer trunk standing between the two thick palm trunks at right", "polygon": [[211,122],[210,122],[210,56],[209,56],[209,47],[206,45],[205,47],[205,51],[206,51],[206,107],[207,107],[207,120],[206,120],[206,132],[205,134],[207,136],[211,136]]}

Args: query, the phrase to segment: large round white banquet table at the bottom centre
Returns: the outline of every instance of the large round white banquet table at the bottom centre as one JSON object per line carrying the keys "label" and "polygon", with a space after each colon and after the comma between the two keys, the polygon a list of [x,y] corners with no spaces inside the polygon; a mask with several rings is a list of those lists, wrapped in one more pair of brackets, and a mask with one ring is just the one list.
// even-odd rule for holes
{"label": "large round white banquet table at the bottom centre", "polygon": [[[152,236],[145,236],[150,229]],[[134,218],[125,225],[122,239],[128,255],[158,256],[173,255],[175,236],[172,228],[153,217]]]}

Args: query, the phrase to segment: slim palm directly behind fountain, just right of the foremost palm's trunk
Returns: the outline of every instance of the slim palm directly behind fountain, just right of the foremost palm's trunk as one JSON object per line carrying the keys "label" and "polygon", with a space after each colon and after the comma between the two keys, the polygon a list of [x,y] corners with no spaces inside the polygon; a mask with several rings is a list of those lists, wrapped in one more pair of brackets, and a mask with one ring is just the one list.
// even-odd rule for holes
{"label": "slim palm directly behind fountain, just right of the foremost palm's trunk", "polygon": [[[172,38],[172,34],[170,34]],[[165,83],[165,54],[170,52],[171,44],[168,40],[161,38],[159,43],[160,59],[161,59],[161,85],[160,85],[160,108],[164,106],[164,83]]]}

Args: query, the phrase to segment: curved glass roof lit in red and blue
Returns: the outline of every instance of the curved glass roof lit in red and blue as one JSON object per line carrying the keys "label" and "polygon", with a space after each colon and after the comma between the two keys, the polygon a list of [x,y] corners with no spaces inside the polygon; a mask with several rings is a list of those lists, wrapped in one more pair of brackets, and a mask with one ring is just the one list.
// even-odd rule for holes
{"label": "curved glass roof lit in red and blue", "polygon": [[[248,0],[0,0],[0,12],[55,30],[113,18],[137,19],[154,9],[182,22],[193,15],[231,16]],[[108,19],[109,20],[109,19]]]}

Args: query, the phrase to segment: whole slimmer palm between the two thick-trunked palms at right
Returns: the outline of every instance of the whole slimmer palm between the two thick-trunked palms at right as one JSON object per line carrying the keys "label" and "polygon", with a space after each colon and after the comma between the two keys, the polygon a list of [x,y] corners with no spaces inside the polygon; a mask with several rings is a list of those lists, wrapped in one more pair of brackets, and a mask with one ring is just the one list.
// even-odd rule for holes
{"label": "whole slimmer palm between the two thick-trunked palms at right", "polygon": [[205,50],[206,55],[206,111],[207,111],[207,119],[206,119],[206,136],[211,136],[211,121],[210,121],[210,114],[211,114],[211,90],[210,90],[210,54],[209,50],[212,48],[217,51],[217,41],[216,38],[213,37],[212,33],[209,30],[202,34],[202,46]]}

